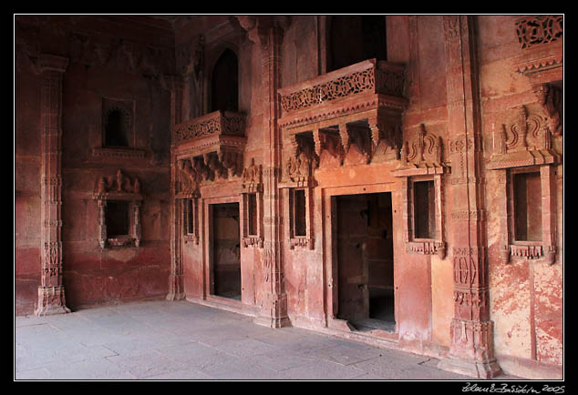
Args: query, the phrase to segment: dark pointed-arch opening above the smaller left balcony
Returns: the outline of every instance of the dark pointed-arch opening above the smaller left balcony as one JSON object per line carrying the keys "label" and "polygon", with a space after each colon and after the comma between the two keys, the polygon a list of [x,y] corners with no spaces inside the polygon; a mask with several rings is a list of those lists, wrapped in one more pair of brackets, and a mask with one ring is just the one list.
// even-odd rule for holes
{"label": "dark pointed-arch opening above the smaller left balcony", "polygon": [[239,60],[225,48],[212,67],[210,112],[239,110]]}

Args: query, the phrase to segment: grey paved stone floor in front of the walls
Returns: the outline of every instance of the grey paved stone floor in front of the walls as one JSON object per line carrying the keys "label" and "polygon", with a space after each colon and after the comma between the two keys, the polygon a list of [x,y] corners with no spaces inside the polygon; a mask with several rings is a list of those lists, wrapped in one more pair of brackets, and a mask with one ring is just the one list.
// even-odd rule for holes
{"label": "grey paved stone floor in front of the walls", "polygon": [[471,380],[437,364],[188,301],[15,318],[15,380]]}

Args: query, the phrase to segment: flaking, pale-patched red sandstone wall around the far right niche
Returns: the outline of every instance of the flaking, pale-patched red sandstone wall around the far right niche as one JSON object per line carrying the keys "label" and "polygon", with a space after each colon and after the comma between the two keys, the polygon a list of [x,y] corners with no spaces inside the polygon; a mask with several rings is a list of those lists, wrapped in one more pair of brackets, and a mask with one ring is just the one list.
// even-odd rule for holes
{"label": "flaking, pale-patched red sandstone wall around the far right niche", "polygon": [[[537,102],[529,79],[514,70],[516,56],[522,54],[512,28],[515,19],[516,16],[478,18],[482,128],[486,147],[491,147],[492,131],[501,126],[504,114],[512,107],[532,107]],[[563,152],[562,137],[554,138],[553,145],[558,152]],[[551,266],[541,260],[518,258],[512,258],[508,265],[501,262],[498,250],[500,234],[505,229],[498,213],[491,209],[500,204],[501,195],[496,192],[500,183],[492,171],[486,173],[488,228],[499,230],[488,233],[490,307],[495,323],[496,355],[502,369],[532,378],[548,377],[548,366],[563,362],[563,167],[558,166],[556,170],[559,253]],[[542,215],[545,212],[542,208]],[[542,364],[545,373],[532,372],[538,364]]]}

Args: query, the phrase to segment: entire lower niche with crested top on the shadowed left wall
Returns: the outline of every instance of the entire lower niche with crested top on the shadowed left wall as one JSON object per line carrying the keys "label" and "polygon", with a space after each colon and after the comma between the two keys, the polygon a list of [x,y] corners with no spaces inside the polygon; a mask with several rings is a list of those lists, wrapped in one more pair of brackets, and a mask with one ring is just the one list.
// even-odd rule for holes
{"label": "entire lower niche with crested top on the shadowed left wall", "polygon": [[139,178],[131,180],[119,169],[114,176],[99,177],[95,184],[100,248],[139,247],[143,200]]}

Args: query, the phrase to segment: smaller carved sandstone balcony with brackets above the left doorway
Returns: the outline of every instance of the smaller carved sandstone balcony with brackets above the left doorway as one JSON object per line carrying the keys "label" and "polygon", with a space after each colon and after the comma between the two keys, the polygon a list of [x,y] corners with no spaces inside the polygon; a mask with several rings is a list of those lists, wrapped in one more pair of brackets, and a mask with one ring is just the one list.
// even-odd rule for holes
{"label": "smaller carved sandstone balcony with brackets above the left doorway", "polygon": [[[245,116],[215,111],[173,128],[173,152],[182,181],[176,193],[196,190],[201,181],[241,176]],[[181,190],[182,189],[182,190]]]}

